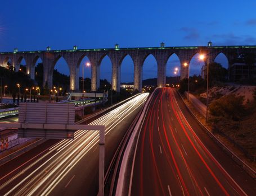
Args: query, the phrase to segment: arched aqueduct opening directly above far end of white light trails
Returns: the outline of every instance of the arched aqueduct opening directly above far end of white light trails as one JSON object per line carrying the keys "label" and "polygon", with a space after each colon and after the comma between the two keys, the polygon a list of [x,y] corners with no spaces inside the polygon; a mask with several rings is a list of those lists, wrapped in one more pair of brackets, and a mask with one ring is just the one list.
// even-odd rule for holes
{"label": "arched aqueduct opening directly above far end of white light trails", "polygon": [[146,57],[142,68],[142,91],[145,91],[147,86],[156,86],[158,80],[158,63],[152,54]]}

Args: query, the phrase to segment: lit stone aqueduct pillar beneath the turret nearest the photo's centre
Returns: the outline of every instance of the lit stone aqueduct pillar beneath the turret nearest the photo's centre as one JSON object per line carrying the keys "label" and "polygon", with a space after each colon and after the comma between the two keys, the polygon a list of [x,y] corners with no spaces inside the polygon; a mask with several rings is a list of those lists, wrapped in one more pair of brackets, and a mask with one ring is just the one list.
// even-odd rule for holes
{"label": "lit stone aqueduct pillar beneath the turret nearest the photo's centre", "polygon": [[118,62],[118,59],[114,59],[112,63],[111,86],[112,86],[112,90],[116,92],[120,92],[120,73],[121,73],[121,66]]}

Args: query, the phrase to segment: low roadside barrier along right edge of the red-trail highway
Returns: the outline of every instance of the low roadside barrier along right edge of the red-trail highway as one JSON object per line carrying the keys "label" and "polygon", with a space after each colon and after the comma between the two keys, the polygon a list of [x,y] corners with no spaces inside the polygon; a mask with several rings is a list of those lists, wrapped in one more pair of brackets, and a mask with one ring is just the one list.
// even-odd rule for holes
{"label": "low roadside barrier along right edge of the red-trail highway", "polygon": [[[179,92],[178,92],[179,94]],[[197,122],[199,122],[200,126],[206,130],[206,134],[208,134],[208,136],[215,142],[218,144],[219,147],[221,147],[221,149],[227,153],[228,156],[230,156],[232,158],[233,161],[236,162],[237,165],[239,165],[242,169],[244,169],[250,176],[251,178],[253,178],[254,180],[256,179],[256,171],[254,171],[249,165],[247,165],[244,161],[242,161],[237,155],[235,155],[235,153],[233,153],[228,147],[226,147],[221,141],[219,141],[219,139],[217,137],[214,136],[214,134],[212,132],[210,132],[209,129],[207,129],[194,115],[194,113],[192,113],[192,111],[190,110],[190,108],[188,108],[187,104],[185,103],[183,97],[181,96],[181,94],[179,94],[179,96],[181,97],[182,101],[184,102],[184,104],[186,105],[186,108],[188,109],[188,111],[190,112],[190,114],[192,114],[192,116],[197,120]]]}

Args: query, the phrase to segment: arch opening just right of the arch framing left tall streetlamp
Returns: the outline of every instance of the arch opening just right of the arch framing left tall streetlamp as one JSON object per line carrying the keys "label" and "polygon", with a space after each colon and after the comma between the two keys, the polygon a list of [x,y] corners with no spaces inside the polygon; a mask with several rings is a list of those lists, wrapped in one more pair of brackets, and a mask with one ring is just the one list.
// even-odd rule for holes
{"label": "arch opening just right of the arch framing left tall streetlamp", "polygon": [[109,56],[105,55],[100,61],[100,89],[101,91],[109,90],[111,88],[112,79],[112,62]]}

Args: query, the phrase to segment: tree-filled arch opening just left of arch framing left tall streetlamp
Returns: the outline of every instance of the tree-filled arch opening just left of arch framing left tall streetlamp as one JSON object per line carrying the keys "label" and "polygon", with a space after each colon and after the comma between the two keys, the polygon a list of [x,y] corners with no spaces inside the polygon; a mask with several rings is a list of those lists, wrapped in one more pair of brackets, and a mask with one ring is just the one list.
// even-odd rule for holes
{"label": "tree-filled arch opening just left of arch framing left tall streetlamp", "polygon": [[64,95],[70,89],[70,70],[66,60],[59,56],[50,68],[48,84],[50,91],[55,94]]}

